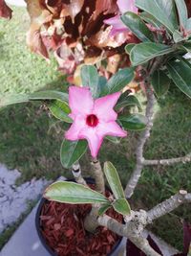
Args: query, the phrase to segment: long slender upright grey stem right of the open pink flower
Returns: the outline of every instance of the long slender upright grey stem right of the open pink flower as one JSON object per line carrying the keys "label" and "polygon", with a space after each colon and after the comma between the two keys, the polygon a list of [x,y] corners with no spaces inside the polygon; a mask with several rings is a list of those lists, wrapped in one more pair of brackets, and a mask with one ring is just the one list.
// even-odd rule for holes
{"label": "long slender upright grey stem right of the open pink flower", "polygon": [[136,168],[131,175],[131,178],[126,186],[125,195],[126,198],[131,198],[134,194],[134,190],[138,184],[139,177],[143,168],[143,148],[150,137],[150,130],[153,127],[153,115],[154,115],[154,105],[155,105],[155,96],[150,87],[146,84],[146,95],[147,95],[147,106],[146,106],[146,118],[148,120],[147,127],[142,131],[138,139],[138,145],[136,150]]}

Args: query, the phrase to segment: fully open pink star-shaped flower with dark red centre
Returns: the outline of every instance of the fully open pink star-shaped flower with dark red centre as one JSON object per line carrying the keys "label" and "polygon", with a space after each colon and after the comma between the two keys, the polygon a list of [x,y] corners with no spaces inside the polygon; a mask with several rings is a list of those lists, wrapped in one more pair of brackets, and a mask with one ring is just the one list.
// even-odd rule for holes
{"label": "fully open pink star-shaped flower with dark red centre", "polygon": [[114,93],[94,100],[88,87],[69,88],[69,105],[74,120],[65,133],[68,140],[86,139],[93,157],[96,157],[104,136],[125,137],[127,132],[117,125],[117,113],[113,107],[120,93]]}

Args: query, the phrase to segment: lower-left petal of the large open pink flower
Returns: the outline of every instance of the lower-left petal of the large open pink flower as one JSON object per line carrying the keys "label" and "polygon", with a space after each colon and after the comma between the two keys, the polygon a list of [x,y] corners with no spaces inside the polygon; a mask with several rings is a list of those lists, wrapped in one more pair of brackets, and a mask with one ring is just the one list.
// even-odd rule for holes
{"label": "lower-left petal of the large open pink flower", "polygon": [[76,116],[74,119],[74,123],[71,126],[71,128],[69,128],[69,130],[66,131],[65,133],[65,138],[67,140],[78,140],[79,139],[79,133],[81,131],[81,129],[86,127],[86,121],[84,119],[83,116]]}

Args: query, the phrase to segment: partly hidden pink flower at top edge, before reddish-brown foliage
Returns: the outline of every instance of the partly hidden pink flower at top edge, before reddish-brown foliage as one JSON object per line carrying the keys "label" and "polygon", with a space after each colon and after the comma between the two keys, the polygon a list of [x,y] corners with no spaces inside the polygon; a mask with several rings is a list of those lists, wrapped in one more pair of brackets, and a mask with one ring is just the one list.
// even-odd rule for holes
{"label": "partly hidden pink flower at top edge, before reddish-brown foliage", "polygon": [[[121,14],[125,12],[138,13],[138,8],[135,6],[135,0],[117,0],[117,6]],[[112,26],[112,35],[129,31],[121,21],[120,15],[106,19],[104,20],[104,23]]]}

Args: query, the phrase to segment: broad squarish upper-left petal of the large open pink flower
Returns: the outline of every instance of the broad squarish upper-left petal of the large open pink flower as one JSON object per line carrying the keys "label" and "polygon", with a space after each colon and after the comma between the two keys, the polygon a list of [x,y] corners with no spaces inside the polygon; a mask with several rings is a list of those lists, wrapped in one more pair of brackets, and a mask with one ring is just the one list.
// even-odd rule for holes
{"label": "broad squarish upper-left petal of the large open pink flower", "polygon": [[94,106],[94,100],[90,89],[86,87],[70,86],[69,105],[72,109],[73,116],[78,114],[90,114]]}

